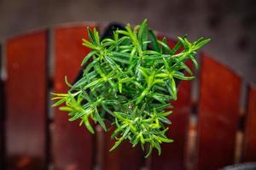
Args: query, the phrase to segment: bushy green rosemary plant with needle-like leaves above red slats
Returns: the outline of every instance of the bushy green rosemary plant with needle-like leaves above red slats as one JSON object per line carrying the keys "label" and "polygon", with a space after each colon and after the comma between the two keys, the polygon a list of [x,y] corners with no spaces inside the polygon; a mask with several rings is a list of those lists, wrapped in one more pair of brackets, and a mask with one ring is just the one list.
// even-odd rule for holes
{"label": "bushy green rosemary plant with needle-like leaves above red slats", "polygon": [[148,29],[147,20],[134,29],[128,24],[102,41],[95,28],[87,31],[90,41],[83,39],[83,45],[91,51],[81,64],[87,65],[84,75],[73,85],[66,77],[70,89],[67,94],[54,94],[53,106],[65,104],[60,110],[68,112],[69,121],[79,119],[90,133],[95,133],[90,120],[105,131],[105,122],[111,122],[115,127],[112,139],[116,139],[111,150],[129,140],[132,146],[141,144],[143,150],[148,144],[146,157],[154,148],[160,155],[160,144],[172,143],[166,137],[166,125],[171,124],[166,116],[172,113],[169,102],[177,99],[176,81],[194,78],[185,61],[191,59],[198,68],[196,51],[210,39],[189,42],[186,36],[178,37],[170,48],[166,38],[159,40]]}

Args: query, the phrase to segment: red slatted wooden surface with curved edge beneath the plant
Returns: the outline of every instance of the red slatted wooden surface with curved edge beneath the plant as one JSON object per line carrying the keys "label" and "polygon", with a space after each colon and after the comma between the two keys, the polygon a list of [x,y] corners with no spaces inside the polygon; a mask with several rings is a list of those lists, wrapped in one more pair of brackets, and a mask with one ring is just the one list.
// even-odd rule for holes
{"label": "red slatted wooden surface with curved edge beneath the plant", "polygon": [[[67,91],[64,76],[72,81],[89,52],[81,45],[87,26],[104,27],[55,26],[3,43],[0,169],[218,169],[256,161],[256,88],[207,54],[200,55],[199,83],[180,84],[169,117],[168,136],[175,142],[163,144],[161,156],[154,152],[145,160],[128,143],[108,153],[110,133],[96,127],[91,135],[78,122],[68,122],[67,114],[52,110],[49,92]],[[198,99],[192,100],[195,89]],[[246,108],[241,108],[242,99]]]}

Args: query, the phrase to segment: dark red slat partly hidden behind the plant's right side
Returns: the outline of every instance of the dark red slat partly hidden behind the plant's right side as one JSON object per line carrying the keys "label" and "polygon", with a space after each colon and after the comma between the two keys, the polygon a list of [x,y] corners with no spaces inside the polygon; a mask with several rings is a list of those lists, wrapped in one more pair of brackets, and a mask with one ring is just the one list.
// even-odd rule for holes
{"label": "dark red slat partly hidden behind the plant's right side", "polygon": [[[168,38],[168,44],[171,48],[176,43],[172,38]],[[151,169],[153,170],[184,169],[189,115],[191,113],[191,85],[191,81],[183,81],[178,86],[177,101],[172,102],[174,109],[172,115],[168,117],[172,125],[166,134],[168,138],[174,139],[174,142],[172,144],[162,144],[162,154],[160,156],[154,150],[151,156]]]}

